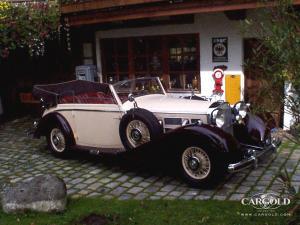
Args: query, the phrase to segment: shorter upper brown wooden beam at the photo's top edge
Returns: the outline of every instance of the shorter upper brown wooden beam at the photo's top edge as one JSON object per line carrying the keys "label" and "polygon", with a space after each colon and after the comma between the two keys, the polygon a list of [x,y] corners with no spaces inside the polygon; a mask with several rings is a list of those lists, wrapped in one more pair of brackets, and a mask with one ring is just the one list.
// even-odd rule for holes
{"label": "shorter upper brown wooden beam at the photo's top edge", "polygon": [[89,10],[98,10],[112,7],[136,5],[136,4],[145,4],[145,3],[155,3],[162,2],[164,0],[92,0],[86,2],[77,2],[71,4],[62,4],[61,13],[75,13],[75,12],[84,12]]}

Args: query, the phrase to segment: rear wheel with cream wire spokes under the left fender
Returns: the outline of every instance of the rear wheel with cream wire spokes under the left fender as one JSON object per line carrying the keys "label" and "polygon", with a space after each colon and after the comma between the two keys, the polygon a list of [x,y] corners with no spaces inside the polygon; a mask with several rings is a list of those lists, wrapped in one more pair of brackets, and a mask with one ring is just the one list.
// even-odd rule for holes
{"label": "rear wheel with cream wire spokes under the left fender", "polygon": [[61,158],[68,155],[69,146],[67,144],[66,136],[60,127],[54,126],[49,129],[47,134],[47,143],[53,155]]}

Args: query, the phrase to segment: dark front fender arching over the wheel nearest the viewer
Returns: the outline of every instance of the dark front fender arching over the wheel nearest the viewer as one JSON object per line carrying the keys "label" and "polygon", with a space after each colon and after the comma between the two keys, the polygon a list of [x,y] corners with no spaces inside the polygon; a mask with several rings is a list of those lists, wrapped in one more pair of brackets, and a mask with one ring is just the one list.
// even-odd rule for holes
{"label": "dark front fender arching over the wheel nearest the viewer", "polygon": [[178,150],[183,150],[184,146],[195,143],[200,143],[215,154],[224,156],[224,161],[236,162],[243,157],[239,142],[231,134],[207,124],[191,124],[174,129],[130,152],[143,154],[148,151],[149,155],[157,153],[172,155]]}

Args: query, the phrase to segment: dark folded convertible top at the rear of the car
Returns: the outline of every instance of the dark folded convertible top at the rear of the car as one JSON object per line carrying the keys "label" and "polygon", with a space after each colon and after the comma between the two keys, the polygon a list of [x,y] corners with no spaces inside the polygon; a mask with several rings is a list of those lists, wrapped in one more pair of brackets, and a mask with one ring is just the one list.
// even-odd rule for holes
{"label": "dark folded convertible top at the rear of the car", "polygon": [[56,105],[63,96],[76,96],[86,92],[110,93],[109,85],[85,80],[73,80],[57,84],[34,85],[32,94],[51,105]]}

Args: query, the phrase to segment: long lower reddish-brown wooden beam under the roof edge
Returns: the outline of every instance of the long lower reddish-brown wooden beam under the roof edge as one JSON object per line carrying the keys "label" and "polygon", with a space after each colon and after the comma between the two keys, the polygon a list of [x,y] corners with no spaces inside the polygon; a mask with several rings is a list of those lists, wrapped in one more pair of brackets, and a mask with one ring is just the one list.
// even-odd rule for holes
{"label": "long lower reddish-brown wooden beam under the roof edge", "polygon": [[[246,2],[230,1],[231,3],[206,3],[204,1],[186,2],[181,4],[169,4],[163,6],[151,6],[136,9],[118,10],[115,12],[96,12],[86,15],[68,16],[71,26],[80,26],[87,24],[106,23],[122,20],[153,18],[161,16],[184,15],[195,13],[222,12],[229,10],[254,9],[261,7],[274,7],[274,2]],[[294,0],[293,4],[299,5],[300,0]]]}

